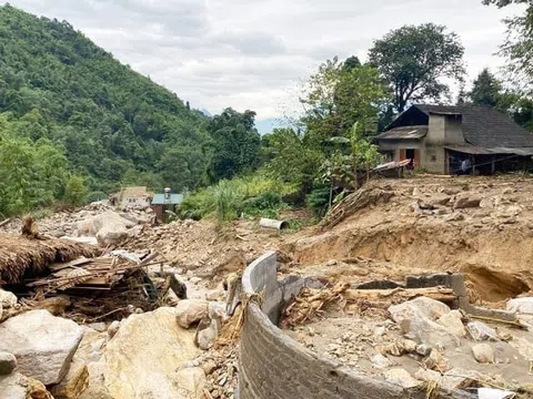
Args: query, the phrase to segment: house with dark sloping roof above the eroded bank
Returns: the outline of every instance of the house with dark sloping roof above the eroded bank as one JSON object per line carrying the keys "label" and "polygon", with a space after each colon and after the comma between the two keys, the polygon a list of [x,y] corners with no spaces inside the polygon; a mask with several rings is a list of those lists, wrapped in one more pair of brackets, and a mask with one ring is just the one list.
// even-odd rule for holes
{"label": "house with dark sloping roof above the eroded bank", "polygon": [[374,137],[388,161],[411,160],[408,168],[455,174],[531,166],[533,134],[505,114],[482,106],[413,105]]}

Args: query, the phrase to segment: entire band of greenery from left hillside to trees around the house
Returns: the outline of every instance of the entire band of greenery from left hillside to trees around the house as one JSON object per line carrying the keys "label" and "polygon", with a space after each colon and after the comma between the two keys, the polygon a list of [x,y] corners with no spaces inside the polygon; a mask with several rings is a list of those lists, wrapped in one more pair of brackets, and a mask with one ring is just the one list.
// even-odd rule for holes
{"label": "entire band of greenery from left hillside to trees around the house", "polygon": [[[484,0],[505,7],[525,0]],[[496,108],[533,129],[533,7],[503,47],[521,90],[489,70],[459,103]],[[99,200],[121,185],[191,194],[182,217],[323,215],[381,161],[372,136],[413,102],[450,103],[464,82],[460,38],[432,23],[375,40],[369,62],[323,62],[293,127],[259,135],[253,111],[207,116],[119,63],[68,22],[0,7],[0,216]],[[527,89],[530,88],[530,89]]]}

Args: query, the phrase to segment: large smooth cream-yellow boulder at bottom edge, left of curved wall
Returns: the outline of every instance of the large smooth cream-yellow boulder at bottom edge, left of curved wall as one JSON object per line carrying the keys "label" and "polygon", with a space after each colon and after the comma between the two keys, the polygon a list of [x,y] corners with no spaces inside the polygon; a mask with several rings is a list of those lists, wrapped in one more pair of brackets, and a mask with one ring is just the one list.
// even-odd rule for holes
{"label": "large smooth cream-yellow boulder at bottom edge, left of curved wall", "polygon": [[108,342],[104,380],[112,398],[194,398],[177,370],[201,351],[194,331],[175,323],[173,308],[159,308],[122,320]]}

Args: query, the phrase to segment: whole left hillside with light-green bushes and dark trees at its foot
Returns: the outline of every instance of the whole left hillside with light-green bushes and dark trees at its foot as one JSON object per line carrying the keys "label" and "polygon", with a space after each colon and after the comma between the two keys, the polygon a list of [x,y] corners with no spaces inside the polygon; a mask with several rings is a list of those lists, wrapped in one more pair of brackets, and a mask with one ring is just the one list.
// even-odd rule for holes
{"label": "whole left hillside with light-green bushes and dark trees at its foot", "polygon": [[[257,166],[253,112],[211,120],[68,22],[9,4],[0,7],[0,153],[21,152],[0,164],[10,174],[0,181],[3,215],[125,184],[192,190]],[[41,164],[44,152],[54,166]],[[77,198],[68,190],[74,181]]]}

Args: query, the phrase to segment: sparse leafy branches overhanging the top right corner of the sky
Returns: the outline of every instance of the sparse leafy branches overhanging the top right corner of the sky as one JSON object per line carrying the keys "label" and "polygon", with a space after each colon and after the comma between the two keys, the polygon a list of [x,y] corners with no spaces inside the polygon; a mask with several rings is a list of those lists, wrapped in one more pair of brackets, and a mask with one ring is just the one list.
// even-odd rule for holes
{"label": "sparse leafy branches overhanging the top right corner of the sky", "polygon": [[[505,20],[507,39],[501,50],[510,60],[509,69],[516,80],[533,84],[533,3],[531,0],[483,0],[484,4],[504,8],[510,4],[525,4],[523,16]],[[530,86],[531,89],[531,86]]]}

